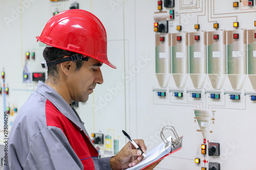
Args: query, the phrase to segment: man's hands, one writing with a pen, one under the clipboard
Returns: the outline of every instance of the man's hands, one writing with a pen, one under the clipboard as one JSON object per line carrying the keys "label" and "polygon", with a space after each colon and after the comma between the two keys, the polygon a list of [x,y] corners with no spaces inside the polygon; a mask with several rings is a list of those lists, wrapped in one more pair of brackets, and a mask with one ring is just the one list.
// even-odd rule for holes
{"label": "man's hands, one writing with a pen, one under the clipboard", "polygon": [[[134,141],[138,144],[138,146],[141,148],[141,150],[144,153],[146,153],[146,146],[145,146],[144,141],[142,139],[135,139]],[[113,170],[125,169],[125,168],[128,168],[128,167],[138,164],[143,158],[144,157],[141,155],[141,151],[137,150],[134,147],[134,145],[129,141],[116,154],[116,156],[114,156],[110,159],[110,165]],[[152,164],[152,165],[154,165],[154,164]],[[151,167],[151,166],[149,166],[149,167]],[[150,170],[150,169],[148,169],[148,170]]]}

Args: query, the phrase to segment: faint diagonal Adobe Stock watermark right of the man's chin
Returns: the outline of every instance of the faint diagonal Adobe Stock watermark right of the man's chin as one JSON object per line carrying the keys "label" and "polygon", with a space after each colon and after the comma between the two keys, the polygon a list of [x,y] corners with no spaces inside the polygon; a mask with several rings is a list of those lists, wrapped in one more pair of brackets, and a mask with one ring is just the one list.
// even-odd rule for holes
{"label": "faint diagonal Adobe Stock watermark right of the man's chin", "polygon": [[[121,78],[125,80],[125,82],[129,83],[135,76],[140,72],[140,70],[148,64],[152,59],[145,56],[140,56],[140,59],[137,65],[134,65],[132,69],[126,70]],[[94,111],[97,114],[99,110],[102,110],[108,102],[112,101],[113,98],[118,94],[119,90],[124,88],[124,83],[117,82],[114,87],[108,88],[108,92],[104,95],[99,96],[98,104],[94,105]],[[92,106],[93,107],[93,106]]]}

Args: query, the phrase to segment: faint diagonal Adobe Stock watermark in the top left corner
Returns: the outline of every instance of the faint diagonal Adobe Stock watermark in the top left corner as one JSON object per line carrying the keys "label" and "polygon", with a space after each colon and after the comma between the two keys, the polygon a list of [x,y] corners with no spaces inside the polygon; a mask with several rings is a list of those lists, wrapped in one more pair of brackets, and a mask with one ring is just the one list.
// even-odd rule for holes
{"label": "faint diagonal Adobe Stock watermark in the top left corner", "polygon": [[26,9],[30,7],[31,3],[34,3],[35,1],[36,0],[24,0],[16,9],[12,8],[11,15],[4,17],[7,27],[10,27],[10,24],[15,22],[15,20],[17,20],[20,17],[20,15],[23,14],[26,11]]}

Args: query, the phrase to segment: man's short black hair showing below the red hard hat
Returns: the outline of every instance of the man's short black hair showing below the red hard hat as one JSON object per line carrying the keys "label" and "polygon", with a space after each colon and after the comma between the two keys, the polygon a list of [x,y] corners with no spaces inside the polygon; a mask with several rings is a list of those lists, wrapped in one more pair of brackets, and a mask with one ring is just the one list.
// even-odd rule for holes
{"label": "man's short black hair showing below the red hard hat", "polygon": [[[65,56],[71,56],[77,53],[61,50],[60,48],[55,47],[46,47],[42,55],[44,56],[46,62],[53,61],[56,59],[63,58]],[[83,64],[82,60],[75,61],[76,62],[76,70],[79,70]],[[57,71],[57,65],[48,67],[48,78],[52,77],[53,79],[58,79],[58,71]]]}

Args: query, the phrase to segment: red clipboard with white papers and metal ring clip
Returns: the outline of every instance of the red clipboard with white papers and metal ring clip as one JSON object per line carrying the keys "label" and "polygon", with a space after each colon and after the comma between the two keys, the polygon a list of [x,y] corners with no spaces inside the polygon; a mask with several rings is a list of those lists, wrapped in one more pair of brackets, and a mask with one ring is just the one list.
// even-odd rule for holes
{"label": "red clipboard with white papers and metal ring clip", "polygon": [[[175,139],[173,140],[172,136],[169,136],[168,138],[166,138],[163,134],[165,130],[171,130],[174,133]],[[146,153],[147,157],[144,158],[140,163],[138,163],[133,167],[127,168],[127,170],[144,169],[152,165],[153,163],[157,162],[158,160],[163,159],[164,157],[182,149],[183,136],[179,137],[173,126],[170,126],[170,125],[164,126],[160,132],[160,136],[163,142],[159,144],[152,151]]]}

